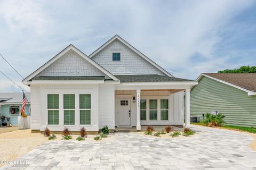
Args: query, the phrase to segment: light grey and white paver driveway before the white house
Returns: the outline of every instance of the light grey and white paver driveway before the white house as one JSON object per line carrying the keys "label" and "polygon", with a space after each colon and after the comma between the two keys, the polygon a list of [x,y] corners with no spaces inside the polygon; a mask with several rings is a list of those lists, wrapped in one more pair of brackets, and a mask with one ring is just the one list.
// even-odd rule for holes
{"label": "light grey and white paver driveway before the white house", "polygon": [[115,141],[54,141],[28,152],[28,165],[5,169],[256,169],[247,134],[193,126],[193,137],[116,133]]}

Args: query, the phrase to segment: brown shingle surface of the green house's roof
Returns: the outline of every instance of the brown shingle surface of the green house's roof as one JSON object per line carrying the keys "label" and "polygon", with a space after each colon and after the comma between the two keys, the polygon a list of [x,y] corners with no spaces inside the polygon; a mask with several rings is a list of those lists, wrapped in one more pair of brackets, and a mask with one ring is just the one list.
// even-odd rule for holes
{"label": "brown shingle surface of the green house's roof", "polygon": [[226,81],[238,87],[256,92],[256,73],[203,73],[210,77]]}

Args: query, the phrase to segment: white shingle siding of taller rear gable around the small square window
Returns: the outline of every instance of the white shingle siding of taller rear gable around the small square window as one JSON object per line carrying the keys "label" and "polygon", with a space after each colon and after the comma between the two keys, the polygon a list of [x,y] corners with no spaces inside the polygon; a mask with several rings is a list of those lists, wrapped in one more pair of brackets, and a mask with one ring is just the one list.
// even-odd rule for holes
{"label": "white shingle siding of taller rear gable around the small square window", "polygon": [[[112,61],[112,53],[121,53],[121,61]],[[114,40],[103,48],[98,54],[92,57],[92,60],[112,74],[165,75],[119,40]]]}

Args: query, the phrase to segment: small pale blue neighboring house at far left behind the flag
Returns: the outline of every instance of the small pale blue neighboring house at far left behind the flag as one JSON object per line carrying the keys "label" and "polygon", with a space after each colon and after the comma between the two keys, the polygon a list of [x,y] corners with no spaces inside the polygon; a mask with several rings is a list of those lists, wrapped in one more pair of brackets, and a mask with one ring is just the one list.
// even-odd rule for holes
{"label": "small pale blue neighboring house at far left behind the flag", "polygon": [[[30,103],[30,95],[25,94],[29,103]],[[11,125],[18,125],[18,116],[21,116],[20,111],[22,108],[22,92],[4,92],[0,93],[0,116],[4,115],[6,117],[10,117]],[[30,115],[30,107],[28,102],[26,103],[25,113]],[[1,120],[0,120],[1,121]],[[6,121],[6,119],[5,119]],[[2,122],[1,124],[2,125]]]}

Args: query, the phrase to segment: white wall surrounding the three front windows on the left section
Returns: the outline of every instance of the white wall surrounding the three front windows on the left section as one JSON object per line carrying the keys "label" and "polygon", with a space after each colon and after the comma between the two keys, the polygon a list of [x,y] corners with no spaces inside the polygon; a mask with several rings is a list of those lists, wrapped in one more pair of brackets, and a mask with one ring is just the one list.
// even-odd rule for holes
{"label": "white wall surrounding the three front windows on the left section", "polygon": [[[47,94],[59,94],[59,125],[47,125]],[[75,94],[75,125],[63,125],[63,94]],[[91,94],[91,125],[79,125],[79,94]],[[99,130],[99,88],[98,84],[41,84],[31,85],[31,129],[62,131],[67,126],[79,131]]]}

